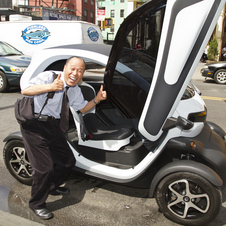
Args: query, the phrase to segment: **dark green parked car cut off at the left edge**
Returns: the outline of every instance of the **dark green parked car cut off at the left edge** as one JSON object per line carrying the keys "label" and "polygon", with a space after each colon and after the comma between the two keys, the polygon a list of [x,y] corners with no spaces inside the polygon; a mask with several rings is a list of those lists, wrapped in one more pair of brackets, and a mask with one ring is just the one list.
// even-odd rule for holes
{"label": "dark green parked car cut off at the left edge", "polygon": [[31,57],[0,41],[0,92],[6,92],[11,86],[19,86],[23,72],[30,64]]}

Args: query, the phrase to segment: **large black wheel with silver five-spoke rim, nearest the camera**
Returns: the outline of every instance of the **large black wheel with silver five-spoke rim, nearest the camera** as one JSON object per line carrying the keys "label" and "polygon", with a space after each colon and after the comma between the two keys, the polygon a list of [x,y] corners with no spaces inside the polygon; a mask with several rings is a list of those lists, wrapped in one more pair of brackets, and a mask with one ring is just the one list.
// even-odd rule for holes
{"label": "large black wheel with silver five-spoke rim, nearest the camera", "polygon": [[206,225],[220,211],[222,193],[203,177],[182,172],[165,177],[156,201],[168,219],[182,225]]}

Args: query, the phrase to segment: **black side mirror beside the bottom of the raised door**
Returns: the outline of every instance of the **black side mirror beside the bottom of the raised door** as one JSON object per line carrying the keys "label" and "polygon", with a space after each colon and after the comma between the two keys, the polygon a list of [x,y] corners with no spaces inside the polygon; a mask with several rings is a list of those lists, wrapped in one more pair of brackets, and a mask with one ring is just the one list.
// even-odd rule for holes
{"label": "black side mirror beside the bottom of the raised door", "polygon": [[170,117],[166,120],[166,123],[163,126],[162,130],[166,131],[175,127],[178,127],[181,130],[189,130],[193,127],[193,125],[193,122],[181,116],[179,116],[178,118]]}

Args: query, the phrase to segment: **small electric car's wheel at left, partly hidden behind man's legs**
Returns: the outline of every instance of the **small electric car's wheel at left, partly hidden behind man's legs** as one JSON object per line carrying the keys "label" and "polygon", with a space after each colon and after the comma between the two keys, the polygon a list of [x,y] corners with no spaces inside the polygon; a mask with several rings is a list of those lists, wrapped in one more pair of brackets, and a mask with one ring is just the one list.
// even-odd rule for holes
{"label": "small electric car's wheel at left, partly hidden behind man's legs", "polygon": [[4,162],[11,173],[19,182],[32,184],[32,167],[29,163],[23,141],[11,140],[5,144],[3,151]]}

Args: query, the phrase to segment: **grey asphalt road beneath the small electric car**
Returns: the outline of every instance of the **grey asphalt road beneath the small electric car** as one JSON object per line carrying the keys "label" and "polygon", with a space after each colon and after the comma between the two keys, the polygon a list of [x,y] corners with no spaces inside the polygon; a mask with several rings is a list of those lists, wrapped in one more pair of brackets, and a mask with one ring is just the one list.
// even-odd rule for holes
{"label": "grey asphalt road beneath the small electric car", "polygon": [[[226,130],[224,116],[226,112],[224,99],[226,98],[226,86],[217,85],[212,81],[205,82],[204,78],[198,74],[198,69],[197,74],[193,77],[193,82],[200,88],[204,97],[210,97],[205,99],[208,108],[207,119],[221,125]],[[47,200],[47,207],[53,211],[55,217],[48,221],[35,217],[28,209],[30,187],[20,184],[9,174],[3,163],[2,155],[3,139],[8,134],[19,130],[14,118],[14,103],[20,96],[18,89],[11,90],[9,93],[0,93],[0,210],[50,226],[178,225],[158,212],[155,199],[147,198],[147,189],[128,188],[73,174],[65,182],[65,186],[71,189],[70,195],[65,197],[49,196]],[[220,97],[221,100],[216,100],[213,97]],[[1,223],[0,218],[0,225],[2,225]],[[19,221],[17,225],[20,225]],[[226,225],[225,192],[223,193],[221,212],[209,225]]]}

